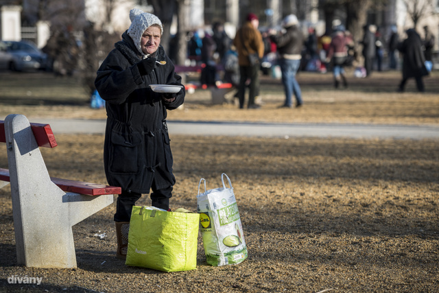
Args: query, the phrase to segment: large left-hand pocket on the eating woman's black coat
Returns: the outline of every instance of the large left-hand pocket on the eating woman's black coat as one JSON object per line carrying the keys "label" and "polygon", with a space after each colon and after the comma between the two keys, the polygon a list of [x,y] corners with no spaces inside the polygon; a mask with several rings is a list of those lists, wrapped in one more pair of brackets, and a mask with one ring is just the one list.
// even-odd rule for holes
{"label": "large left-hand pocket on the eating woman's black coat", "polygon": [[[131,134],[131,135],[130,135]],[[139,152],[143,135],[139,132],[111,132],[110,171],[118,174],[137,174],[141,160]]]}

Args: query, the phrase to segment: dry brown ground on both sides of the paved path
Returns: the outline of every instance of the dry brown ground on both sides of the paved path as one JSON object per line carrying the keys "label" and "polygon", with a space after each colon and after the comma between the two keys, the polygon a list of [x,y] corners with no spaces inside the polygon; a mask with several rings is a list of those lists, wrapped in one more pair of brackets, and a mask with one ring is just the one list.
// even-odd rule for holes
{"label": "dry brown ground on both sides of the paved path", "polygon": [[[399,73],[350,78],[335,91],[331,75],[301,73],[305,106],[280,110],[278,80],[263,78],[261,110],[210,106],[209,93],[187,96],[176,120],[439,124],[439,75],[427,93],[395,93]],[[103,119],[75,80],[0,74],[0,118]],[[44,149],[51,176],[106,183],[102,135],[56,135]],[[10,188],[0,189],[1,292],[439,292],[438,140],[171,137],[177,184],[171,209],[195,211],[200,178],[232,180],[249,257],[209,266],[201,237],[198,268],[158,272],[115,258],[115,204],[74,226],[75,269],[16,266]],[[0,145],[0,167],[6,167]],[[138,202],[150,205],[147,195]],[[100,231],[100,232],[99,232]],[[106,233],[104,239],[94,237]],[[42,277],[40,285],[8,278]]]}

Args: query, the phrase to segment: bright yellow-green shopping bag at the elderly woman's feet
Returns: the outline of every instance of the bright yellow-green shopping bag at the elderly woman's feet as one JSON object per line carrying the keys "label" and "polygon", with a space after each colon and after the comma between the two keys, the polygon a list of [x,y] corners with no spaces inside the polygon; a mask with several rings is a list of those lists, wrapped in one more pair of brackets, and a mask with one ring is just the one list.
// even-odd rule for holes
{"label": "bright yellow-green shopping bag at the elderly woman's feet", "polygon": [[178,272],[197,268],[200,215],[132,207],[125,264]]}

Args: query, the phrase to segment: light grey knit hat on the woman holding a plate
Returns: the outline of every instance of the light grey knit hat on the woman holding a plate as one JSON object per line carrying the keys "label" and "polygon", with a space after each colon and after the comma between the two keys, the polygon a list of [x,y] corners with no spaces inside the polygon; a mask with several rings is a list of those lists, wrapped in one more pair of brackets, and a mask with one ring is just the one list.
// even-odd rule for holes
{"label": "light grey knit hat on the woman holding a plate", "polygon": [[142,51],[140,41],[143,32],[151,25],[160,25],[161,33],[163,34],[163,25],[160,19],[154,14],[143,12],[140,9],[134,8],[130,11],[131,25],[128,29],[128,36],[134,41],[134,45],[142,55],[145,55]]}

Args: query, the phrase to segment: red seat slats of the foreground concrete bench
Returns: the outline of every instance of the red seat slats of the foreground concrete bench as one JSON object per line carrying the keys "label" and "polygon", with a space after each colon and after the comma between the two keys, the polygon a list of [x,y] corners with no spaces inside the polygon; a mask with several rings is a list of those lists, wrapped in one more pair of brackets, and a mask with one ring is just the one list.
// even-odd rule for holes
{"label": "red seat slats of the foreground concrete bench", "polygon": [[[0,180],[10,181],[9,170],[0,168]],[[102,196],[104,194],[121,194],[121,187],[109,186],[97,183],[88,183],[75,180],[67,180],[51,177],[50,180],[58,185],[62,191],[86,194],[88,196]]]}

